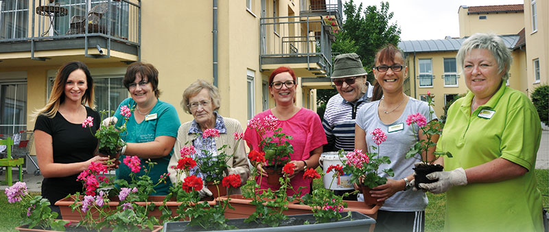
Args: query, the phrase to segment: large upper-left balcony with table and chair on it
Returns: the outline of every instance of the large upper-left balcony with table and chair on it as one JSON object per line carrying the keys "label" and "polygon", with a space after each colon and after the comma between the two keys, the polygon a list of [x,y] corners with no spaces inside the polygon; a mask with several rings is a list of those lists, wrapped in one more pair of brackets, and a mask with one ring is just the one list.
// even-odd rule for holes
{"label": "large upper-left balcony with table and chair on it", "polygon": [[0,1],[0,60],[132,62],[139,60],[140,20],[140,0]]}

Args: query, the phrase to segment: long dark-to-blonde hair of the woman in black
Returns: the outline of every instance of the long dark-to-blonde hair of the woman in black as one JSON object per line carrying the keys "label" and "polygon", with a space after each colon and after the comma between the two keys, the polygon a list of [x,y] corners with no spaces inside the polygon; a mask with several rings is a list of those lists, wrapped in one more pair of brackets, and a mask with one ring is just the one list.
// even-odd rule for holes
{"label": "long dark-to-blonde hair of the woman in black", "polygon": [[90,71],[88,67],[80,61],[71,61],[61,66],[57,71],[56,78],[54,80],[54,86],[51,88],[51,93],[49,94],[49,100],[47,104],[40,108],[32,114],[33,117],[38,117],[38,115],[45,115],[47,117],[53,118],[57,111],[59,111],[59,106],[65,102],[65,84],[69,75],[76,70],[82,70],[86,74],[86,82],[88,84],[88,89],[86,93],[82,96],[81,104],[87,104],[91,108],[94,108],[93,105],[93,78],[91,78]]}

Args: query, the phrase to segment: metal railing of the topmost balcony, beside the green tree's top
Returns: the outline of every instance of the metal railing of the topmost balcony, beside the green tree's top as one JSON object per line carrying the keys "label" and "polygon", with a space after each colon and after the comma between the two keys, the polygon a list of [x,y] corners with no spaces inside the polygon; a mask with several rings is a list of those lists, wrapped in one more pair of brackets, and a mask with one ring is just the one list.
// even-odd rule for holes
{"label": "metal railing of the topmost balcony, beside the green tree's top", "polygon": [[339,25],[343,23],[343,5],[341,0],[303,0],[301,1],[301,15],[333,15]]}

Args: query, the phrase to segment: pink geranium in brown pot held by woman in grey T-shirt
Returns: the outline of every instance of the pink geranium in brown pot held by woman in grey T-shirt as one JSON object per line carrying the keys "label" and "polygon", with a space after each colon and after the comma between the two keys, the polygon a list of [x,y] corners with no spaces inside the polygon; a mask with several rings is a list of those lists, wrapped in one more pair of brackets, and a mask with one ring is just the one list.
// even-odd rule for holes
{"label": "pink geranium in brown pot held by woman in grey T-shirt", "polygon": [[[362,187],[362,194],[364,194],[364,202],[367,205],[379,204],[377,198],[370,196],[370,189],[378,185],[383,185],[387,182],[387,178],[379,176],[379,165],[383,163],[390,163],[389,156],[379,156],[379,153],[375,150],[379,150],[379,144],[387,139],[387,136],[380,128],[375,128],[373,132],[372,140],[377,145],[370,146],[370,152],[363,152],[362,150],[354,150],[345,154],[347,161],[342,161],[343,172],[351,174],[351,182],[357,183]],[[339,152],[340,159],[344,155],[344,151]],[[393,170],[390,168],[383,170],[388,176],[394,176]]]}

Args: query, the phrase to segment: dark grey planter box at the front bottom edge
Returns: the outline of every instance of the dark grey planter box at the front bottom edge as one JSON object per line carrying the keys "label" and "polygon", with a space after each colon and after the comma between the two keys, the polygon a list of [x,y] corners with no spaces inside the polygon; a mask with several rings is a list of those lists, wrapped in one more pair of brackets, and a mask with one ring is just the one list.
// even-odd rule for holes
{"label": "dark grey planter box at the front bottom edge", "polygon": [[[347,213],[342,213],[342,216],[346,216]],[[351,219],[346,218],[338,222],[327,222],[327,223],[318,223],[314,224],[314,216],[312,214],[306,215],[294,215],[290,216],[291,220],[294,223],[301,224],[290,224],[282,222],[279,227],[266,227],[259,228],[261,226],[253,222],[245,223],[244,218],[240,219],[230,219],[227,224],[233,225],[238,228],[236,230],[230,231],[315,231],[315,232],[333,232],[333,231],[367,231],[370,228],[371,224],[375,223],[375,220],[369,216],[365,216],[362,213],[353,211],[351,214]],[[304,221],[310,222],[310,224],[303,224]],[[189,222],[166,222],[164,224],[164,231],[173,232],[173,231],[193,231],[193,229],[187,228]],[[248,229],[244,229],[248,228]]]}

